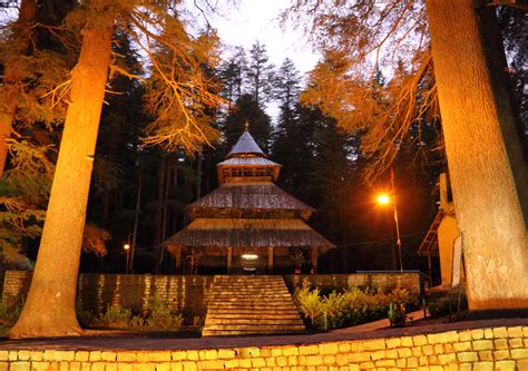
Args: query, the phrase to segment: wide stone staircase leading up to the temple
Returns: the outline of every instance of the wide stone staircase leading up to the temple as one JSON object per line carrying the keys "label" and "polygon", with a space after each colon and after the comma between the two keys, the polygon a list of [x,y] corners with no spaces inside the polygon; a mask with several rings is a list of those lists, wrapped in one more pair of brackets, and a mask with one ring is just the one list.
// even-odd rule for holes
{"label": "wide stone staircase leading up to the temple", "polygon": [[303,321],[281,276],[215,276],[202,336],[303,331]]}

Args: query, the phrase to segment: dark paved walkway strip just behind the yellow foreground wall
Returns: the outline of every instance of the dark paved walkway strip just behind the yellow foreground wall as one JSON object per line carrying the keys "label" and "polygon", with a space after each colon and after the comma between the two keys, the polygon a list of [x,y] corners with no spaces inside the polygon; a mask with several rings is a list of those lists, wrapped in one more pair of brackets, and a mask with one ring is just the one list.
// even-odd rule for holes
{"label": "dark paved walkway strip just behind the yellow foreground wall", "polygon": [[[412,313],[410,314],[412,315]],[[378,325],[381,326],[381,321]],[[372,326],[364,331],[366,325]],[[311,344],[330,341],[346,341],[359,339],[379,339],[401,335],[415,335],[444,332],[450,330],[469,330],[498,326],[528,326],[528,319],[497,319],[462,321],[451,323],[424,323],[410,325],[401,329],[374,329],[377,325],[362,325],[363,331],[354,328],[334,330],[325,333],[274,335],[274,336],[223,336],[223,338],[194,338],[174,339],[159,336],[156,334],[127,334],[116,333],[115,335],[90,335],[79,338],[59,339],[32,339],[32,340],[0,340],[0,350],[20,349],[52,349],[52,350],[196,350],[196,349],[221,349],[221,348],[245,348],[245,346],[267,346],[267,345],[290,345]],[[355,329],[361,328],[356,326]],[[100,333],[99,333],[100,334]]]}

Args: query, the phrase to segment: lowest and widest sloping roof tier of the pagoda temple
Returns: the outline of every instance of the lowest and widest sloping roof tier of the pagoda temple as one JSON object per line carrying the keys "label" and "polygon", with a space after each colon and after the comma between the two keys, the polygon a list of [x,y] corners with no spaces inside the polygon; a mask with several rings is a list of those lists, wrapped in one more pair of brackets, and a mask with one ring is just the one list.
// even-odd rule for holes
{"label": "lowest and widest sloping roof tier of the pagoda temple", "polygon": [[319,247],[335,246],[302,219],[197,218],[164,242],[176,247]]}

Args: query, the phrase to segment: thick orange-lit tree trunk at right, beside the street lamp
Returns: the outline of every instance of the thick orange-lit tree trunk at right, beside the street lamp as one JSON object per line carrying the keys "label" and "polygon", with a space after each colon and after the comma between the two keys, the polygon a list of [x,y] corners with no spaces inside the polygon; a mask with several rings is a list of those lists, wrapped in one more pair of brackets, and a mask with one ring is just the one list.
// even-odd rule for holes
{"label": "thick orange-lit tree trunk at right, beside the street lamp", "polygon": [[511,166],[519,165],[516,172],[521,175],[525,165],[512,160],[515,148],[520,148],[515,143],[515,123],[507,97],[495,86],[493,75],[501,71],[489,64],[493,58],[485,43],[489,39],[479,32],[482,13],[489,11],[485,3],[426,1],[434,75],[463,233],[469,307],[527,309],[527,235],[518,194],[524,191],[516,188]]}

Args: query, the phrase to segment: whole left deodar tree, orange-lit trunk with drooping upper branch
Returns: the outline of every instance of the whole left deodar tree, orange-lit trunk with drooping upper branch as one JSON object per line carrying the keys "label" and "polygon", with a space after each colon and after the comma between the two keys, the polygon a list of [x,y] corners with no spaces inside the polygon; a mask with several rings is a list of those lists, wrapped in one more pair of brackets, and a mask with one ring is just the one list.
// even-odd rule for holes
{"label": "whole left deodar tree, orange-lit trunk with drooping upper branch", "polygon": [[[153,70],[163,76],[164,85],[154,87],[165,95],[157,96],[154,114],[159,119],[149,131],[150,143],[194,149],[209,140],[211,133],[205,131],[196,107],[218,101],[198,71],[203,60],[212,57],[207,51],[211,40],[187,33],[176,10],[179,6],[177,0],[91,0],[70,14],[70,25],[81,28],[80,56],[69,84],[62,85],[69,88],[69,106],[42,238],[28,297],[10,338],[82,332],[75,312],[76,286],[99,117],[108,72],[128,74],[111,64],[117,25],[145,47],[153,58]],[[162,46],[170,56],[163,62],[155,52]]]}

